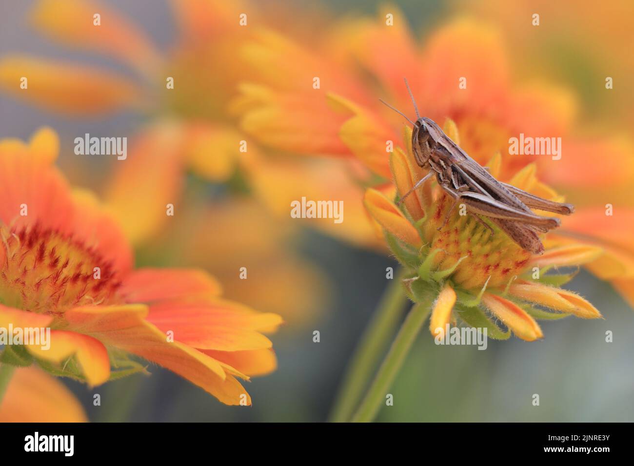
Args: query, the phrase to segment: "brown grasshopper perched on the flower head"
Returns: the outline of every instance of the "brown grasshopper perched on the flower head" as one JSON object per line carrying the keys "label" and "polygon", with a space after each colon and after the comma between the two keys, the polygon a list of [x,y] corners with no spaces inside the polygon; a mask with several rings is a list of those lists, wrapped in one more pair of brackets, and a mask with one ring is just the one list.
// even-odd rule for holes
{"label": "brown grasshopper perched on the flower head", "polygon": [[467,212],[489,228],[491,232],[493,232],[491,226],[486,224],[480,216],[488,217],[522,249],[533,254],[542,254],[544,246],[541,244],[538,233],[545,233],[557,228],[560,221],[555,217],[539,216],[529,207],[569,215],[574,212],[574,206],[534,196],[493,178],[484,167],[475,162],[448,138],[436,122],[420,116],[407,80],[405,80],[405,86],[410,93],[416,111],[416,122],[411,121],[399,110],[381,101],[387,107],[400,113],[414,126],[411,134],[414,157],[417,164],[428,169],[429,173],[418,180],[413,188],[401,197],[399,204],[414,190],[420,188],[425,181],[436,175],[439,186],[454,199],[443,225],[438,230],[443,228],[456,204],[461,202],[465,205]]}

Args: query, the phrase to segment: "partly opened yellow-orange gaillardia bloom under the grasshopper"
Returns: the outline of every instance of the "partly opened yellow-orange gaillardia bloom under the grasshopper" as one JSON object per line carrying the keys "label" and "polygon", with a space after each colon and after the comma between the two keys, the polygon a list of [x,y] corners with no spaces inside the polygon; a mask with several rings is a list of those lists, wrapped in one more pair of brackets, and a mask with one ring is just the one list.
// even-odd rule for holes
{"label": "partly opened yellow-orange gaillardia bloom under the grasshopper", "polygon": [[[454,141],[458,133],[447,120],[445,132]],[[406,152],[396,148],[390,165],[399,196],[425,176],[411,151],[411,129],[405,131]],[[500,157],[494,157],[489,169],[494,176]],[[534,165],[528,165],[511,179],[510,184],[543,198],[560,198],[535,178]],[[400,210],[384,192],[368,189],[365,205],[382,226],[385,238],[399,262],[411,273],[404,280],[410,299],[432,305],[430,330],[444,332],[446,325],[462,321],[487,328],[489,337],[505,339],[510,332],[523,340],[540,339],[543,334],[536,319],[557,319],[568,315],[599,318],[590,302],[559,285],[573,274],[547,274],[557,266],[576,266],[592,261],[600,249],[570,244],[566,248],[547,249],[533,256],[521,249],[503,231],[491,224],[491,230],[475,217],[454,209],[445,224],[450,198],[435,182],[404,198]],[[547,243],[548,248],[548,243]],[[547,310],[548,309],[548,310]],[[498,326],[496,321],[504,324]]]}

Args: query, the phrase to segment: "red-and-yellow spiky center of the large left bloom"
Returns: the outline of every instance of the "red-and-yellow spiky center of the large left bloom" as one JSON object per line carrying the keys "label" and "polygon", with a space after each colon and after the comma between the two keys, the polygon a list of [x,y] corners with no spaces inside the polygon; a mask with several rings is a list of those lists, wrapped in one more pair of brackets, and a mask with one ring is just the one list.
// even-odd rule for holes
{"label": "red-and-yellow spiky center of the large left bloom", "polygon": [[94,249],[39,225],[0,227],[0,302],[61,315],[72,306],[116,301],[120,285]]}

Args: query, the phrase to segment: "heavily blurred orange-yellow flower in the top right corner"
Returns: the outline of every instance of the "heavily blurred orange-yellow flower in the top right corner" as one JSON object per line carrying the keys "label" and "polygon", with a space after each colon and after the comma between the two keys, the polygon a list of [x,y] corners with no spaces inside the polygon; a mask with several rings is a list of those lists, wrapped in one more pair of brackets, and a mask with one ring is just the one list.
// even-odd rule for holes
{"label": "heavily blurred orange-yellow flower in the top right corner", "polygon": [[[593,126],[628,131],[633,122],[634,94],[622,87],[623,77],[634,74],[634,60],[628,55],[633,35],[630,0],[611,0],[603,8],[592,8],[592,0],[579,0],[576,8],[548,0],[489,0],[453,2],[456,11],[495,22],[505,32],[515,61],[531,63],[541,75],[566,79],[586,100]],[[533,25],[539,15],[540,27]],[[549,27],[557,25],[557,28]],[[544,27],[545,26],[545,27]],[[614,79],[614,89],[605,79]]]}

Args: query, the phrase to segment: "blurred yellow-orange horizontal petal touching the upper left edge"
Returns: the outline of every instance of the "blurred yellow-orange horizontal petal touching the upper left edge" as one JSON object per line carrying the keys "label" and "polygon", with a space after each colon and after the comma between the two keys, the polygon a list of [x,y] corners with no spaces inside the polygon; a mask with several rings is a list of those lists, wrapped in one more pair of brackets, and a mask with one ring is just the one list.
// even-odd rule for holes
{"label": "blurred yellow-orange horizontal petal touching the upper left edge", "polygon": [[[20,87],[27,78],[26,89]],[[0,60],[0,89],[51,110],[94,115],[141,105],[141,92],[120,75],[28,56]]]}

